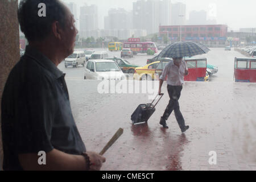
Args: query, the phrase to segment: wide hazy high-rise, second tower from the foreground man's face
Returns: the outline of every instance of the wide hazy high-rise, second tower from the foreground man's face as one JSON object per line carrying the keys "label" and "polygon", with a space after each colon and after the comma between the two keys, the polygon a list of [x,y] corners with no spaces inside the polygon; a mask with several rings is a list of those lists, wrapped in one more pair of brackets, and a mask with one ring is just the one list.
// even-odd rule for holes
{"label": "wide hazy high-rise, second tower from the foreground man's face", "polygon": [[80,7],[80,35],[85,31],[98,29],[98,7],[96,5]]}

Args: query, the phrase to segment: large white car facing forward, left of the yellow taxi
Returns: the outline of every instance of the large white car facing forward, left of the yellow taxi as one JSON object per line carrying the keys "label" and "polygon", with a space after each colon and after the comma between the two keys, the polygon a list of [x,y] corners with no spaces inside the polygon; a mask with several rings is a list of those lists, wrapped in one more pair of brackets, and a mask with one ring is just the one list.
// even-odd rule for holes
{"label": "large white car facing forward, left of the yellow taxi", "polygon": [[92,80],[125,80],[121,68],[113,60],[92,60],[86,63],[84,79]]}

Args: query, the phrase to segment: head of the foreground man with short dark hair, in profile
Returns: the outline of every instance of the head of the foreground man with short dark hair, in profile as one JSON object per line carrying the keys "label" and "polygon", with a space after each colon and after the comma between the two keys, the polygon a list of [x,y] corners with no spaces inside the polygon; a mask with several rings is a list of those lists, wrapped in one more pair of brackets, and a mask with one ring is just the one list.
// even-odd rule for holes
{"label": "head of the foreground man with short dark hair, in profile", "polygon": [[[42,4],[45,7],[40,7]],[[40,8],[45,9],[45,16],[39,16]],[[53,46],[65,52],[65,56],[73,52],[77,35],[75,19],[59,0],[22,0],[18,20],[29,43],[50,39]]]}

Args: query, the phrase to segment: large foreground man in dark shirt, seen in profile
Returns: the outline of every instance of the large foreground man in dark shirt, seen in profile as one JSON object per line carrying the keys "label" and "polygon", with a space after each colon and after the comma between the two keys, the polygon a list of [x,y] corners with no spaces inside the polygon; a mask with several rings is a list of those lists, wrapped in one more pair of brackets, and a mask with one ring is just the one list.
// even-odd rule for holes
{"label": "large foreground man in dark shirt, seen in profile", "polygon": [[[40,3],[46,16],[38,14]],[[29,46],[3,91],[3,169],[99,170],[105,158],[86,152],[57,68],[75,46],[73,15],[58,0],[24,0],[18,18]],[[40,151],[46,164],[38,162]]]}

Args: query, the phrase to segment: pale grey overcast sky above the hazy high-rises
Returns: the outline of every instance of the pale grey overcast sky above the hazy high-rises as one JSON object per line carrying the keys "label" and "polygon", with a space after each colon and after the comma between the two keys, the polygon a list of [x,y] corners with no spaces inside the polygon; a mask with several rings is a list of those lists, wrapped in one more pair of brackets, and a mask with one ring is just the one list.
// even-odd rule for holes
{"label": "pale grey overcast sky above the hazy high-rises", "polygon": [[[104,27],[104,16],[108,15],[110,8],[122,7],[126,10],[133,9],[133,2],[137,0],[62,0],[75,2],[79,13],[79,6],[97,5],[99,11],[99,26]],[[172,3],[183,2],[187,5],[187,19],[192,10],[206,10],[211,17],[215,17],[218,24],[228,24],[230,29],[256,27],[256,1],[255,0],[172,0]]]}

